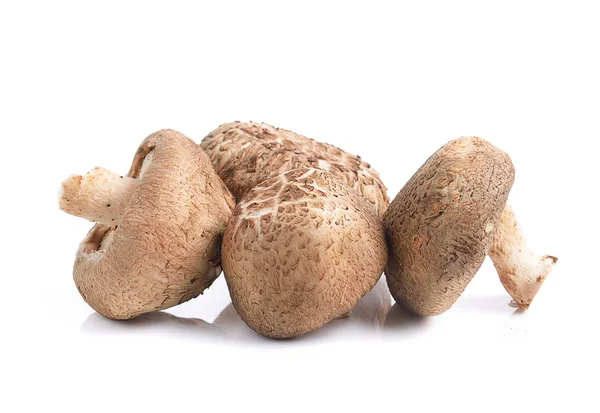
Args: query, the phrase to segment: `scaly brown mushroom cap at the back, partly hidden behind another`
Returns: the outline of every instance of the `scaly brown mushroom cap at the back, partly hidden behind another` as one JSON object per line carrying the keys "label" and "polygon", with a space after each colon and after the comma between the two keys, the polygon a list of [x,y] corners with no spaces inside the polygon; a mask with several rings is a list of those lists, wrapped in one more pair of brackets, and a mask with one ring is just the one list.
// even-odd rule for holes
{"label": "scaly brown mushroom cap at the back, partly hidden behind another", "polygon": [[383,215],[390,203],[381,178],[360,157],[265,123],[232,122],[200,144],[239,201],[259,183],[297,168],[324,169],[356,189]]}

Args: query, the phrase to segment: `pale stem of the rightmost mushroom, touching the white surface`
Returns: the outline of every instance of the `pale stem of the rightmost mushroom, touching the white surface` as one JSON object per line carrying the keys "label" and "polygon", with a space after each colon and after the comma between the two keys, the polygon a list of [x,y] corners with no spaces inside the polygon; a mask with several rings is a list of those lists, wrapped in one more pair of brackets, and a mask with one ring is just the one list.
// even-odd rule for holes
{"label": "pale stem of the rightmost mushroom, touching the white surface", "polygon": [[526,310],[557,261],[531,251],[510,205],[506,205],[489,250],[500,281],[517,305]]}

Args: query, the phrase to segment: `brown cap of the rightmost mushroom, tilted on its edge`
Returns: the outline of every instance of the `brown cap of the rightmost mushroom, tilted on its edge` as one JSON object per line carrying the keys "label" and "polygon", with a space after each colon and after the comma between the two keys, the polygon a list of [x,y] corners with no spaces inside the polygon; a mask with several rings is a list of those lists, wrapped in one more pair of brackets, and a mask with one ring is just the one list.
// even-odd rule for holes
{"label": "brown cap of the rightmost mushroom, tilted on its edge", "polygon": [[509,156],[477,137],[449,142],[383,217],[394,299],[421,315],[454,304],[481,267],[514,181]]}

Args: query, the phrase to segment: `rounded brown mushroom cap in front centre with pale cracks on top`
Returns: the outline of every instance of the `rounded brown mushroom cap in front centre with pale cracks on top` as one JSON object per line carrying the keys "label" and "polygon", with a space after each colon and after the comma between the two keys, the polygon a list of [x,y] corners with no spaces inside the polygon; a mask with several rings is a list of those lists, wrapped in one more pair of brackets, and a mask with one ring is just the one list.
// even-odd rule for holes
{"label": "rounded brown mushroom cap in front centre with pale cracks on top", "polygon": [[297,169],[262,182],[223,236],[234,307],[256,332],[294,337],[350,311],[383,272],[381,219],[328,172]]}

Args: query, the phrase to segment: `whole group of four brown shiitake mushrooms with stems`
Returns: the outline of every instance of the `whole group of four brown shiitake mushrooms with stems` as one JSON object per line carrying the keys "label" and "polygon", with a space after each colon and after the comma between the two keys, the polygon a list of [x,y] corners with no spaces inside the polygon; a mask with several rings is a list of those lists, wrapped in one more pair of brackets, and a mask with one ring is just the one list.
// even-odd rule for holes
{"label": "whole group of four brown shiitake mushrooms with stems", "polygon": [[527,309],[556,258],[526,245],[507,205],[509,156],[477,137],[435,152],[390,203],[358,156],[261,123],[233,122],[200,145],[148,136],[127,175],[95,168],[62,184],[63,211],[94,222],[75,284],[112,319],[202,294],[223,270],[253,330],[296,337],[350,314],[385,270],[410,311],[448,310],[493,260]]}

